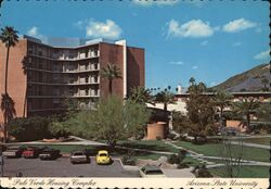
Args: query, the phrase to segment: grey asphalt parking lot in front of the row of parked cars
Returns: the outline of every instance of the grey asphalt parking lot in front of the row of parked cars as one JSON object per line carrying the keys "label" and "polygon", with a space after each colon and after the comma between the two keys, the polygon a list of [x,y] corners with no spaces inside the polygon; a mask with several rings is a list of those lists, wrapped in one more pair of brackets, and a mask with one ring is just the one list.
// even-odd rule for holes
{"label": "grey asphalt parking lot in front of the row of parked cars", "polygon": [[26,177],[139,177],[139,172],[125,171],[117,160],[112,165],[96,165],[93,158],[90,164],[75,165],[67,158],[55,161],[23,158],[4,160],[4,176],[15,176],[18,172]]}

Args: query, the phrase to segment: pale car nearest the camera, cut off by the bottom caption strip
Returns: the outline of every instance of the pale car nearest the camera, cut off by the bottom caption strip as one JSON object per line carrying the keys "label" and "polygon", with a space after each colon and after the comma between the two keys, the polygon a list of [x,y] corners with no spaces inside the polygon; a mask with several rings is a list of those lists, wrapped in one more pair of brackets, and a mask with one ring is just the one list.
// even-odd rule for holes
{"label": "pale car nearest the camera, cut off by the bottom caption strip", "polygon": [[166,177],[160,167],[156,165],[145,165],[140,168],[139,174],[144,178]]}

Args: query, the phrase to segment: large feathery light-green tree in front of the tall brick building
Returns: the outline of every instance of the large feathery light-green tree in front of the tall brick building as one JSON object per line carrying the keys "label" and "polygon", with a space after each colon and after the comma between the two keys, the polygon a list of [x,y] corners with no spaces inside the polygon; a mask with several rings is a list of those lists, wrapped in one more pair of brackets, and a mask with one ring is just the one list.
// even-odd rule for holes
{"label": "large feathery light-green tree in front of the tall brick building", "polygon": [[118,97],[111,96],[101,99],[96,110],[75,113],[61,124],[54,124],[52,129],[89,139],[103,139],[114,148],[120,139],[141,138],[149,117],[144,104],[131,100],[124,103]]}

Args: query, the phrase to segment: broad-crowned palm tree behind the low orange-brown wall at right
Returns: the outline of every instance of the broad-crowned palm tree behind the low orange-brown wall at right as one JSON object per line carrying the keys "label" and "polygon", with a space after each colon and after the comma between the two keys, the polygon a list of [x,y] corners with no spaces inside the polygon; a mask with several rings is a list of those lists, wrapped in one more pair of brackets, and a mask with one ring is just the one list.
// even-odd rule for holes
{"label": "broad-crowned palm tree behind the low orange-brown wall at right", "polygon": [[250,131],[250,114],[259,108],[259,102],[254,98],[245,98],[241,102],[236,102],[233,105],[236,113],[246,116],[247,129]]}

